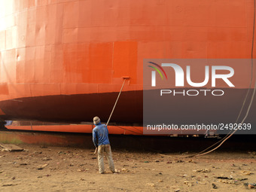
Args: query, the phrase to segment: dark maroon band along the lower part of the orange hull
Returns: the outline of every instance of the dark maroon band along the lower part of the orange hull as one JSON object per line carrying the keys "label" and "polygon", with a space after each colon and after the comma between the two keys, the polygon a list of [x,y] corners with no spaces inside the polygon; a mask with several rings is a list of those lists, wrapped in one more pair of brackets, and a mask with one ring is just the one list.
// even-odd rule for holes
{"label": "dark maroon band along the lower part of the orange hull", "polygon": [[[188,89],[175,89],[184,93]],[[197,89],[194,89],[197,90]],[[202,89],[198,89],[202,90]],[[235,123],[245,101],[248,89],[222,89],[223,96],[173,96],[169,94],[169,117],[173,123]],[[148,90],[157,91],[157,90]],[[248,97],[238,120],[239,123],[248,110],[253,90]],[[153,93],[153,92],[152,92]],[[35,96],[1,101],[3,119],[41,120],[52,122],[81,123],[91,122],[99,116],[102,122],[108,120],[118,93],[91,93],[76,95]],[[144,108],[147,110],[147,108]],[[155,108],[154,110],[161,110]],[[159,111],[160,113],[161,111]],[[256,101],[252,102],[246,122],[256,124]],[[153,117],[152,117],[153,118]],[[142,126],[143,123],[143,91],[125,91],[111,117],[111,122],[123,125]],[[117,124],[118,124],[117,123]]]}

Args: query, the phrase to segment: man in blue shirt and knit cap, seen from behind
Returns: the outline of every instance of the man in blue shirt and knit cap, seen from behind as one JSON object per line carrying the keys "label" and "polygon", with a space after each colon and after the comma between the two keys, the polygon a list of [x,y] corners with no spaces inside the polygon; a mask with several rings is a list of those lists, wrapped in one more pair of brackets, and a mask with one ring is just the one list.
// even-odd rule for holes
{"label": "man in blue shirt and knit cap, seen from behind", "polygon": [[104,152],[107,154],[109,169],[114,173],[114,162],[108,140],[108,128],[105,124],[100,123],[99,117],[94,117],[93,123],[96,125],[93,129],[93,144],[98,148],[99,173],[104,173]]}

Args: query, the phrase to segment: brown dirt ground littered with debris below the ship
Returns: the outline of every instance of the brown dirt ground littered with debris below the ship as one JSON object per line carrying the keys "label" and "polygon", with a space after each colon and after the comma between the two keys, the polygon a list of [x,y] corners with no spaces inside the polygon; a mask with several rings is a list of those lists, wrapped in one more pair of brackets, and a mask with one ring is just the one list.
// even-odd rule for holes
{"label": "brown dirt ground littered with debris below the ship", "polygon": [[18,146],[25,151],[0,152],[0,191],[256,191],[248,189],[256,183],[254,151],[184,158],[113,150],[119,173],[105,160],[99,174],[93,150]]}

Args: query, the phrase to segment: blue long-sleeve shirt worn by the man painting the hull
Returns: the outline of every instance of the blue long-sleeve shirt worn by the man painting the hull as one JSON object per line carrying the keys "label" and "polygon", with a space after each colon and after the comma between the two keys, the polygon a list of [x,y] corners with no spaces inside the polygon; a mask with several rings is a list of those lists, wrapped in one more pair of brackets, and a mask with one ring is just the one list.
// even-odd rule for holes
{"label": "blue long-sleeve shirt worn by the man painting the hull", "polygon": [[93,144],[96,148],[98,147],[98,145],[110,144],[108,140],[108,128],[105,124],[98,123],[96,124],[96,127],[93,128]]}

